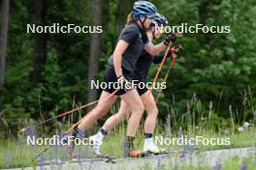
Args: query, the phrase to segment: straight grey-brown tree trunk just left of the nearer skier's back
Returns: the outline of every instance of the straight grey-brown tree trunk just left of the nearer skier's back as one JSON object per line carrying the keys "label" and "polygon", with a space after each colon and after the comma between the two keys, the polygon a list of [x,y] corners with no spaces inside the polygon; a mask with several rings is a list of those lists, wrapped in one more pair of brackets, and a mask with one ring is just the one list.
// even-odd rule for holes
{"label": "straight grey-brown tree trunk just left of the nearer skier's back", "polygon": [[[106,0],[93,0],[92,12],[93,12],[93,25],[102,25],[102,3]],[[93,101],[97,98],[97,89],[91,89],[90,82],[96,79],[96,74],[99,69],[99,55],[101,53],[101,34],[93,34],[90,42],[89,52],[89,68],[88,68],[88,96],[87,102]]]}

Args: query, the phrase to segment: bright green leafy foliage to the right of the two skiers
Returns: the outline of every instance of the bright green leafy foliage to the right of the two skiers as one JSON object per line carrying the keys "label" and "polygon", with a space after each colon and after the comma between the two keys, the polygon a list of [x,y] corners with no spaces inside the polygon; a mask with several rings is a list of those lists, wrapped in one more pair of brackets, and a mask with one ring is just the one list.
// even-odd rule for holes
{"label": "bright green leafy foliage to the right of the two skiers", "polygon": [[[185,110],[186,102],[197,94],[202,104],[211,100],[218,103],[225,117],[229,105],[242,110],[240,94],[251,88],[255,92],[255,2],[254,1],[154,1],[160,12],[167,15],[171,25],[188,23],[193,25],[230,25],[229,34],[185,34],[180,41],[185,48],[184,61],[177,61],[170,75],[170,86],[160,101],[176,104]],[[163,71],[165,72],[165,71]],[[151,74],[151,76],[153,76]],[[251,100],[251,103],[255,103]],[[249,111],[252,116],[252,111]]]}

